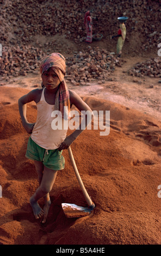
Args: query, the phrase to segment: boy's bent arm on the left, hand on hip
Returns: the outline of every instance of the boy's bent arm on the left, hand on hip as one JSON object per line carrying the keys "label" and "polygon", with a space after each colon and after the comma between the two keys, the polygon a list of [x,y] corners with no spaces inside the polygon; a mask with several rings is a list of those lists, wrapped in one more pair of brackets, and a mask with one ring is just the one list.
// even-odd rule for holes
{"label": "boy's bent arm on the left, hand on hip", "polygon": [[18,99],[18,108],[19,108],[20,117],[22,120],[22,125],[28,133],[32,133],[32,130],[35,124],[35,123],[29,123],[26,117],[27,103],[35,100],[34,91],[35,90],[29,92],[26,95],[23,95],[22,97],[20,97],[20,99]]}

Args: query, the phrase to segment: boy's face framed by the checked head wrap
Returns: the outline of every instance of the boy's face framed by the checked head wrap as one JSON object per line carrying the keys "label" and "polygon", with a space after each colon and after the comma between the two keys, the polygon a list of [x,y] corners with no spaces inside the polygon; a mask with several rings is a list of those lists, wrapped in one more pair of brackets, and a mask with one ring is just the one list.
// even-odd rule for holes
{"label": "boy's face framed by the checked head wrap", "polygon": [[42,74],[42,82],[46,89],[53,90],[59,86],[60,80],[57,74],[50,68]]}

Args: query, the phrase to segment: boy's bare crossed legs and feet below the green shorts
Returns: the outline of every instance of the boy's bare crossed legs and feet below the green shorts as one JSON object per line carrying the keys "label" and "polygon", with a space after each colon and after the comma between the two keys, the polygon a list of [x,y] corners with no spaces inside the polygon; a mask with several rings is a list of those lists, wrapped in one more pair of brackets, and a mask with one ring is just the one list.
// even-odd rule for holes
{"label": "boy's bare crossed legs and feet below the green shorts", "polygon": [[46,217],[47,217],[51,202],[50,200],[46,202],[44,212],[43,212],[40,206],[38,205],[38,200],[41,197],[46,196],[51,191],[56,176],[57,176],[56,170],[52,170],[44,166],[44,173],[42,176],[41,184],[36,190],[36,192],[33,194],[33,196],[30,198],[30,204],[33,208],[35,218],[41,217],[44,213],[44,220],[42,221],[42,223],[45,223],[46,221]]}

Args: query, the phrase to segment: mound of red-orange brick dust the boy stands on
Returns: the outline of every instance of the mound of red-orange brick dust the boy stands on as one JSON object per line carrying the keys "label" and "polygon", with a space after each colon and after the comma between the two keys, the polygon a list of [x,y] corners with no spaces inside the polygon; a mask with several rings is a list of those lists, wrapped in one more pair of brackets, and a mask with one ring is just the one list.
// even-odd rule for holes
{"label": "mound of red-orange brick dust the boy stands on", "polygon": [[[12,101],[7,95],[12,95]],[[17,93],[16,93],[17,92]],[[26,90],[27,92],[27,90]],[[24,89],[1,88],[0,242],[4,245],[160,244],[159,121],[119,104],[83,97],[96,111],[110,111],[110,133],[86,129],[71,145],[84,186],[96,207],[91,215],[66,218],[61,203],[86,206],[67,150],[65,169],[51,191],[47,222],[35,220],[29,197],[38,187],[34,163],[25,157],[29,135],[18,113]],[[36,107],[28,104],[29,121]],[[71,132],[71,131],[69,131]],[[43,200],[40,200],[43,207]]]}

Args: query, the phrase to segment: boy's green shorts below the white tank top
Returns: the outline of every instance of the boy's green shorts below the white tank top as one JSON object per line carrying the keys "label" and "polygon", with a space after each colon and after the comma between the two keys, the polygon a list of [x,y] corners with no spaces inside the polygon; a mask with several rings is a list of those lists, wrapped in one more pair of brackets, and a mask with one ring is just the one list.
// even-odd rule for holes
{"label": "boy's green shorts below the white tank top", "polygon": [[27,144],[26,157],[31,160],[41,161],[44,166],[52,170],[63,170],[65,160],[61,155],[62,150],[58,149],[44,149],[36,144],[32,138],[29,137]]}

